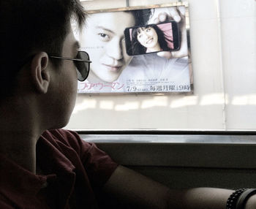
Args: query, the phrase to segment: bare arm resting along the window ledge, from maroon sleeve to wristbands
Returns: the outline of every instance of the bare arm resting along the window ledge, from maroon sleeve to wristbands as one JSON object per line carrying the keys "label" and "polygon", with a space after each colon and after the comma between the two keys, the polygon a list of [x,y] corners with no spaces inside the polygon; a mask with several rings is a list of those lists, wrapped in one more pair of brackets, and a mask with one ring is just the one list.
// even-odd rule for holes
{"label": "bare arm resting along the window ledge, from maroon sleeve to wristbands", "polygon": [[[228,189],[169,189],[126,167],[118,166],[104,186],[104,191],[131,208],[225,209]],[[255,207],[256,197],[249,198],[246,209]]]}

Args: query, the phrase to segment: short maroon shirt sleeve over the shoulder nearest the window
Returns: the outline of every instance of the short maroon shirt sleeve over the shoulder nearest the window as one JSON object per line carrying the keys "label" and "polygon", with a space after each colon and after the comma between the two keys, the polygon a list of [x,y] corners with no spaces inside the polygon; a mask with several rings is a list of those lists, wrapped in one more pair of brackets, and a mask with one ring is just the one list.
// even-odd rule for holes
{"label": "short maroon shirt sleeve over the shoulder nearest the window", "polygon": [[97,145],[82,140],[78,133],[64,129],[58,129],[57,132],[78,153],[91,186],[94,189],[104,186],[118,164],[107,153],[97,148]]}

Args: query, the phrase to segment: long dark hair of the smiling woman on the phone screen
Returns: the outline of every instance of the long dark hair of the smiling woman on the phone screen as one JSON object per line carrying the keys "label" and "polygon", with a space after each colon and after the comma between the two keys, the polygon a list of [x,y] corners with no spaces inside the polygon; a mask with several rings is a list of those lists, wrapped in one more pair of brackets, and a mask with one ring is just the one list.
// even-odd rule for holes
{"label": "long dark hair of the smiling woman on the phone screen", "polygon": [[138,41],[138,34],[140,33],[141,28],[154,28],[154,30],[157,32],[158,42],[162,50],[169,51],[171,50],[170,47],[168,47],[167,41],[173,42],[173,40],[169,39],[165,33],[155,24],[151,24],[145,27],[139,27],[139,28],[132,28],[132,54],[138,55],[138,54],[144,54],[146,53],[147,48],[140,44]]}

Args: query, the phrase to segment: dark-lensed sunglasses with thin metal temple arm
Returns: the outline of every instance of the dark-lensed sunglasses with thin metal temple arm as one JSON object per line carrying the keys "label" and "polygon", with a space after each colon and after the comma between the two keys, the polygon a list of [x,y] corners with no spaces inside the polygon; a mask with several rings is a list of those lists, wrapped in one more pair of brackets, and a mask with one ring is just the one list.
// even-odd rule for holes
{"label": "dark-lensed sunglasses with thin metal temple arm", "polygon": [[89,75],[91,61],[89,58],[89,54],[86,53],[85,51],[78,51],[78,55],[75,58],[67,58],[67,57],[61,57],[61,56],[49,56],[49,57],[74,61],[74,64],[77,68],[79,81],[86,80],[86,78]]}

